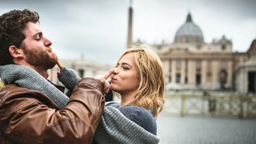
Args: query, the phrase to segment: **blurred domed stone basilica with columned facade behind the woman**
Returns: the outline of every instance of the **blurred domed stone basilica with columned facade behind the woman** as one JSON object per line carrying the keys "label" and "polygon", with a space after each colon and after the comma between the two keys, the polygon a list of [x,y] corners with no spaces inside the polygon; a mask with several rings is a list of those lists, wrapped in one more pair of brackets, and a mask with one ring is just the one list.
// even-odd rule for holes
{"label": "blurred domed stone basilica with columned facade behind the woman", "polygon": [[[204,42],[202,30],[190,13],[171,44],[153,44],[163,61],[170,89],[220,89],[233,87],[235,55],[225,36]],[[244,54],[240,54],[243,56]]]}

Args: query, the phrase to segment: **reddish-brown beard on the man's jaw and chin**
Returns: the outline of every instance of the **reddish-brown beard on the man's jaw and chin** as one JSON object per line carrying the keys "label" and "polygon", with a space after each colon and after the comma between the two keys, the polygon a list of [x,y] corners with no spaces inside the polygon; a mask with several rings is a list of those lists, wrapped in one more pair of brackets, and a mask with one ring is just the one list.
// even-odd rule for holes
{"label": "reddish-brown beard on the man's jaw and chin", "polygon": [[58,62],[58,57],[55,53],[51,53],[52,56],[50,56],[50,53],[48,52],[49,49],[35,49],[34,51],[31,51],[26,47],[23,47],[24,54],[26,55],[26,62],[37,68],[46,70],[53,68]]}

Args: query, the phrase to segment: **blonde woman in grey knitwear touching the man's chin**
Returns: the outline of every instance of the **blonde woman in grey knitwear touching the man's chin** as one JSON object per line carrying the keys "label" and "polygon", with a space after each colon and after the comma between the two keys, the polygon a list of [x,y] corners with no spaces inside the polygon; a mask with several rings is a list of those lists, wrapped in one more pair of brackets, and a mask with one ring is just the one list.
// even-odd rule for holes
{"label": "blonde woman in grey knitwear touching the man's chin", "polygon": [[[60,82],[72,92],[80,78],[72,69],[60,63],[58,66]],[[36,84],[41,80],[33,81]],[[117,62],[110,84],[121,102],[106,102],[92,143],[158,143],[155,119],[164,107],[164,81],[162,62],[149,46],[127,49]],[[50,89],[47,85],[41,88]],[[41,91],[47,96],[63,94],[56,89],[51,89],[51,93]]]}

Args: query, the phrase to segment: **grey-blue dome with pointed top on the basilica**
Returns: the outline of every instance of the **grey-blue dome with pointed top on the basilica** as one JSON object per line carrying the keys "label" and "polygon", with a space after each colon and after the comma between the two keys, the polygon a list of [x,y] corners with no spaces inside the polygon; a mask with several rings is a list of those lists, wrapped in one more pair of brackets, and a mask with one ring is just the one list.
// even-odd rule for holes
{"label": "grey-blue dome with pointed top on the basilica", "polygon": [[177,30],[174,43],[202,43],[204,36],[202,30],[192,21],[190,12],[186,22]]}

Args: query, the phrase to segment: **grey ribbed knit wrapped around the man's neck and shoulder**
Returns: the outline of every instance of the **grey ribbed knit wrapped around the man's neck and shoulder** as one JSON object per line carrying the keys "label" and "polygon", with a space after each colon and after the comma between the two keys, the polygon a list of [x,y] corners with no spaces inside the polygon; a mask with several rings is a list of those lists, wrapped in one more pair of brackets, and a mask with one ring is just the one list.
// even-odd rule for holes
{"label": "grey ribbed knit wrapped around the man's neck and shoulder", "polygon": [[18,84],[20,87],[43,92],[60,109],[63,109],[68,103],[69,98],[64,93],[32,68],[16,64],[0,66],[0,77],[4,84]]}

